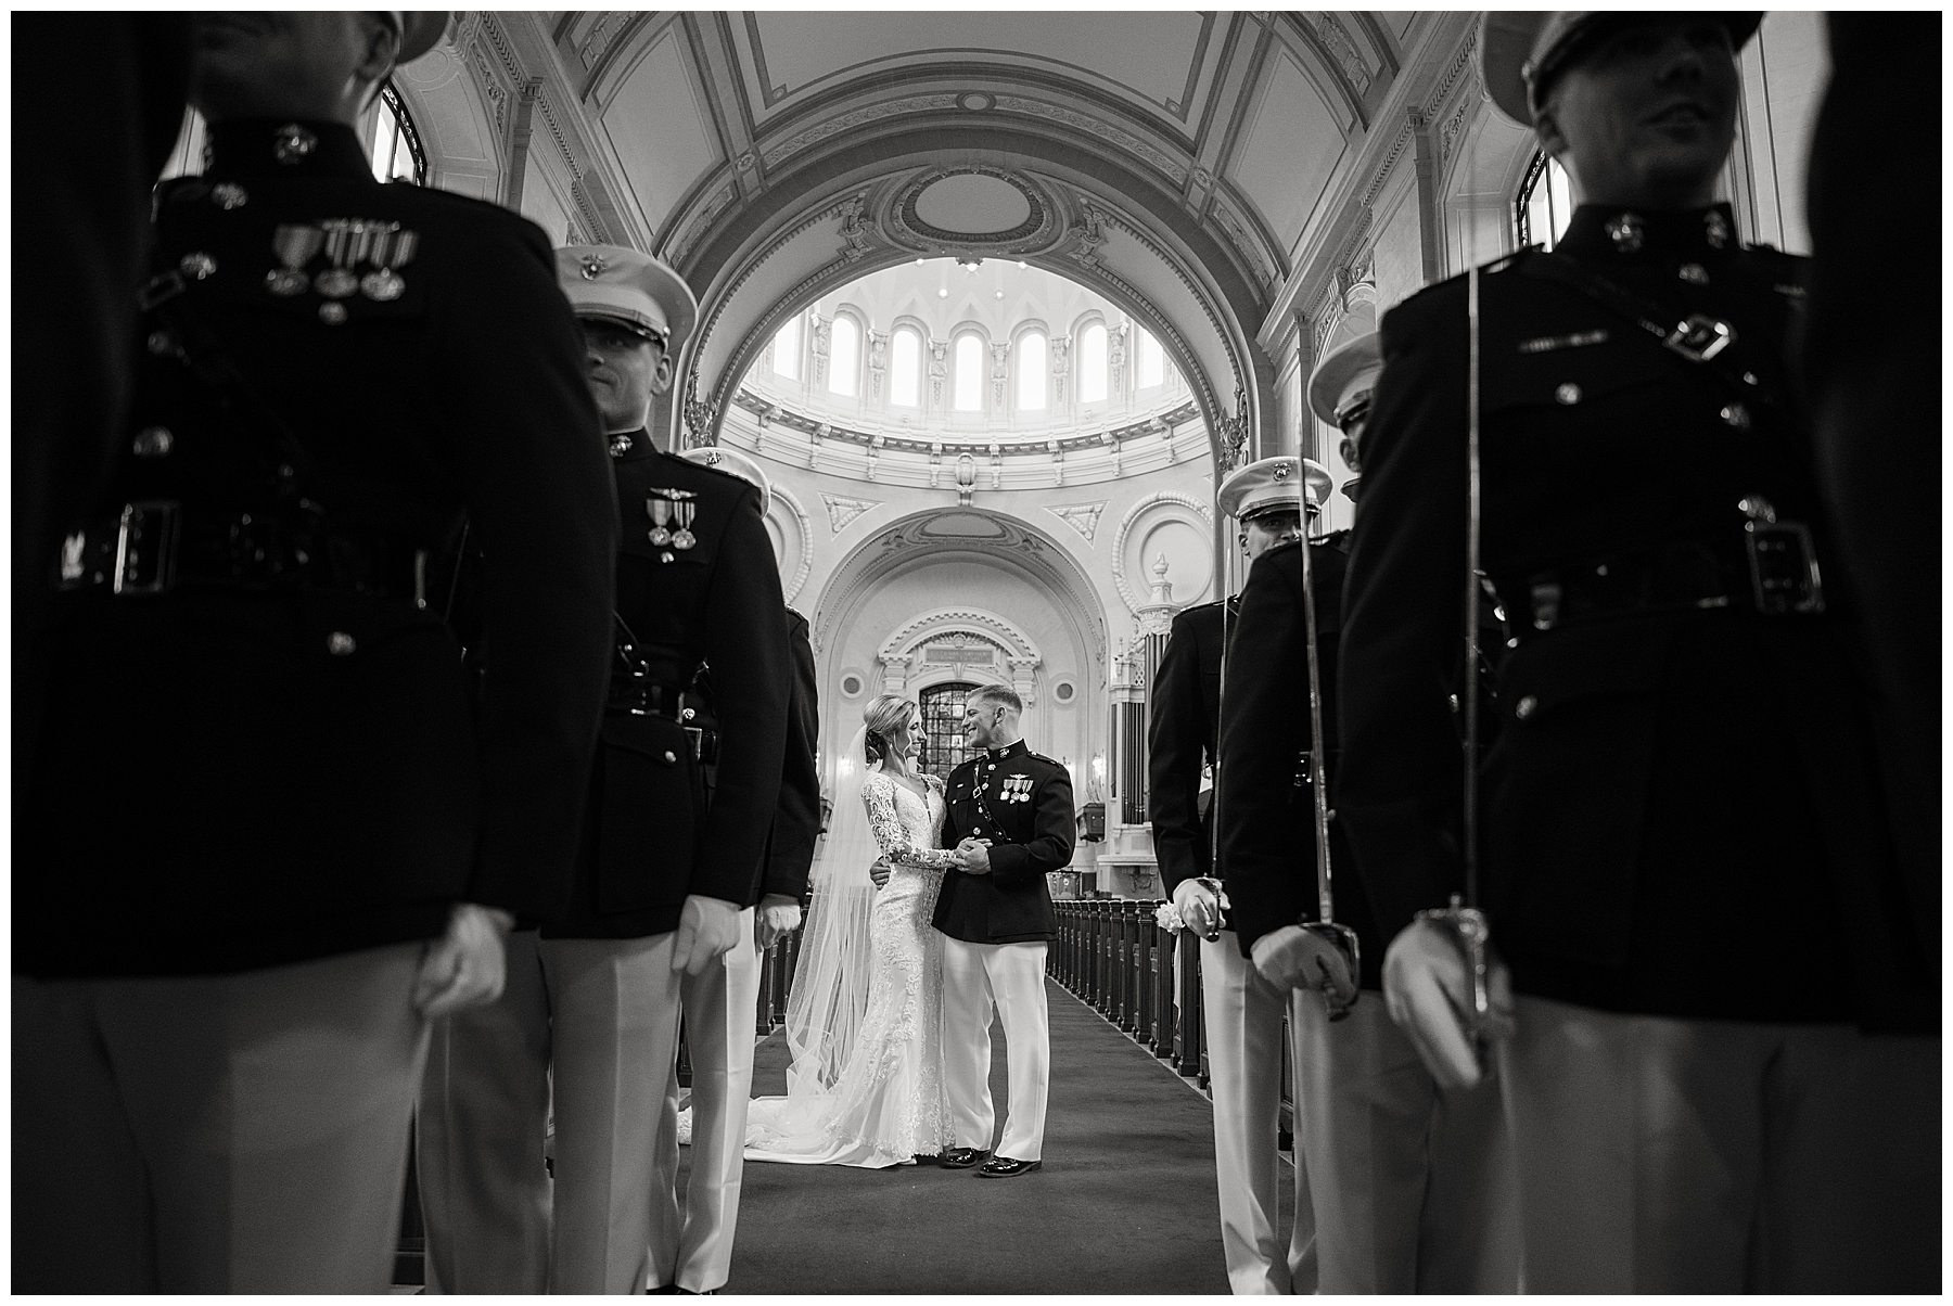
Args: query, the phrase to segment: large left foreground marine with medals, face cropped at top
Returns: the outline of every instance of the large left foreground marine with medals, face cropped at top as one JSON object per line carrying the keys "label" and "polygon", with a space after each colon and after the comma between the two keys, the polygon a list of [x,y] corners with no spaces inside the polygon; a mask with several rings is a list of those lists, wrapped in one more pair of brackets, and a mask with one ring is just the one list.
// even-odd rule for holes
{"label": "large left foreground marine with medals, face cropped at top", "polygon": [[18,808],[18,1286],[383,1292],[424,1011],[566,898],[615,551],[576,324],[537,226],[377,184],[348,125],[443,23],[195,23],[209,168],[156,195]]}

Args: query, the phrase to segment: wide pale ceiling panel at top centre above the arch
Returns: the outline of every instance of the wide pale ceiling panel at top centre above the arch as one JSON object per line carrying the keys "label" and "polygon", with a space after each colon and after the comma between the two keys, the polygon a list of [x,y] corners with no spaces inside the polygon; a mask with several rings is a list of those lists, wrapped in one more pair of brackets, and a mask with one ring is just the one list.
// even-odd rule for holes
{"label": "wide pale ceiling panel at top centre above the arch", "polygon": [[1076,78],[1191,135],[1219,61],[1213,14],[937,12],[736,16],[760,125],[863,76],[996,62]]}

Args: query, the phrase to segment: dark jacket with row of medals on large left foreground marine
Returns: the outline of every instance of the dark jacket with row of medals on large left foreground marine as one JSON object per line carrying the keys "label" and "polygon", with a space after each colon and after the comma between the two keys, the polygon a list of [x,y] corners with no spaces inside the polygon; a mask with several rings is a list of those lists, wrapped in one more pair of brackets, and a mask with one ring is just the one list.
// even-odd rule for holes
{"label": "dark jacket with row of medals on large left foreground marine", "polygon": [[[16,826],[31,974],[295,962],[432,937],[455,900],[537,914],[568,888],[617,527],[549,242],[377,184],[350,127],[279,127],[215,129],[211,170],[158,195],[154,267],[186,287],[164,310],[297,433],[324,527],[273,490],[264,418],[236,390],[227,416],[152,316],[121,467],[62,547],[78,588]],[[398,224],[398,285],[361,289],[381,250],[318,238],[342,219]],[[324,295],[326,271],[352,285]],[[117,597],[115,521],[145,500],[182,504],[184,580]],[[477,705],[436,584],[463,517],[494,562]]]}

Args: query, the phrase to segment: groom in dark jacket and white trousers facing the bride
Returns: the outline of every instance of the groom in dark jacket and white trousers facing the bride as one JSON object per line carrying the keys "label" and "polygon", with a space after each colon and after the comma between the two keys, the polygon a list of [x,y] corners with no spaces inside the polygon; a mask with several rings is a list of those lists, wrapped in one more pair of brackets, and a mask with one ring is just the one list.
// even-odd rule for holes
{"label": "groom in dark jacket and white trousers facing the bride", "polygon": [[1008,1179],[1043,1165],[1051,1027],[1045,949],[1057,931],[1047,871],[1072,861],[1072,781],[1064,765],[1023,746],[1023,701],[1002,685],[975,689],[963,738],[982,755],[949,773],[943,847],[963,871],[943,877],[935,927],[943,939],[943,1068],[957,1146],[947,1169],[969,1169],[990,1148],[990,1013],[1010,1046],[1010,1115],[984,1167]]}

